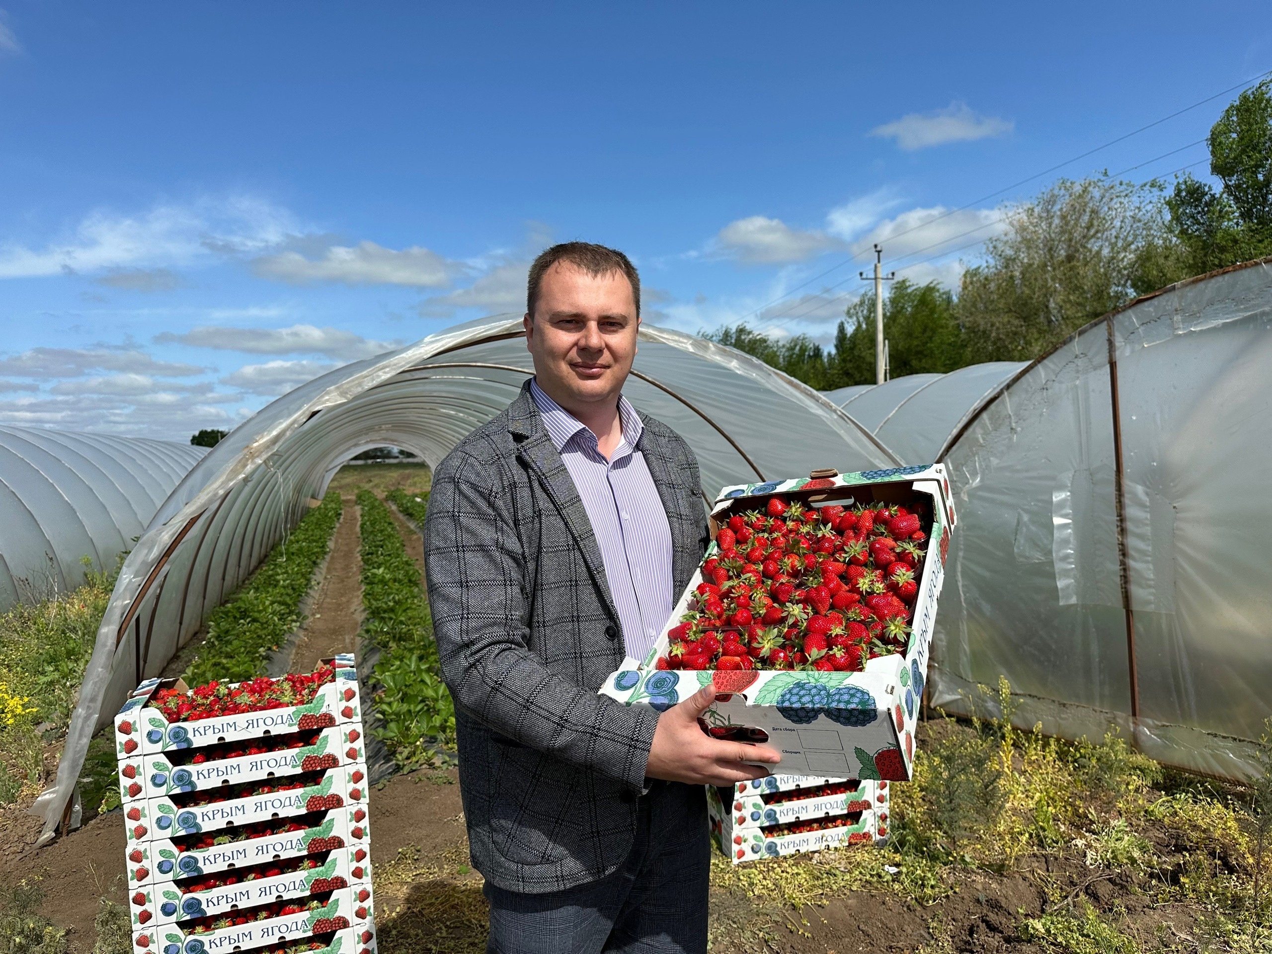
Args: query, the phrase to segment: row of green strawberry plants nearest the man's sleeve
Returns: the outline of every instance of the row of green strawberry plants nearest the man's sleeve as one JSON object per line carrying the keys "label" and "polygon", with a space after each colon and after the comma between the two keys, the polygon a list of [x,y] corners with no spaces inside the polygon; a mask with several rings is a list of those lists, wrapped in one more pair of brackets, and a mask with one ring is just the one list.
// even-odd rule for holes
{"label": "row of green strawberry plants nearest the man's sleeve", "polygon": [[363,511],[363,636],[380,650],[373,679],[383,721],[374,731],[399,764],[413,767],[429,759],[430,745],[453,744],[455,709],[441,681],[420,567],[407,555],[388,508],[365,490],[359,491],[357,505]]}

